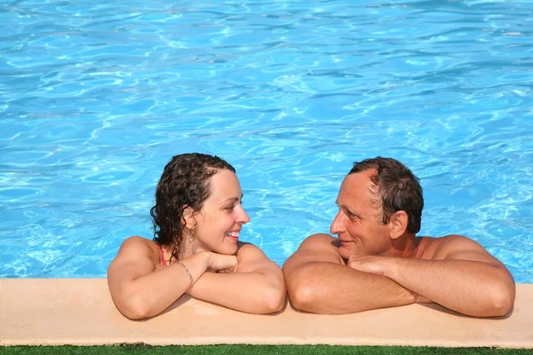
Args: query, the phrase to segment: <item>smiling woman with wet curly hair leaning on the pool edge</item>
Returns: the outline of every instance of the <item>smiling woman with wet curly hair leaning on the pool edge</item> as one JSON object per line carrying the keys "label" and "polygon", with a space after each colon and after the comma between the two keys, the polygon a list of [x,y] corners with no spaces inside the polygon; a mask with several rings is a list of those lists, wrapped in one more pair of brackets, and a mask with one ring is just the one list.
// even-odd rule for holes
{"label": "smiling woman with wet curly hair leaning on the pool edge", "polygon": [[163,170],[150,214],[154,241],[131,237],[109,265],[107,283],[129,319],[163,312],[180,296],[250,313],[285,304],[282,271],[239,241],[250,217],[235,169],[217,156],[181,154]]}

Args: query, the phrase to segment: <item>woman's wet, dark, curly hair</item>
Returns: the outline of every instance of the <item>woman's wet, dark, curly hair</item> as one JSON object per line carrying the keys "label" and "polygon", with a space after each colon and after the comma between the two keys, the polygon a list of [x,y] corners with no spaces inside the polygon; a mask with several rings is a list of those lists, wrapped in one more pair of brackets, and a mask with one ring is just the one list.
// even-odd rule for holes
{"label": "woman's wet, dark, curly hair", "polygon": [[172,157],[163,170],[155,190],[155,206],[150,209],[154,225],[154,241],[172,246],[172,259],[179,259],[187,207],[202,209],[210,195],[210,177],[219,170],[235,168],[225,160],[209,154],[179,154]]}

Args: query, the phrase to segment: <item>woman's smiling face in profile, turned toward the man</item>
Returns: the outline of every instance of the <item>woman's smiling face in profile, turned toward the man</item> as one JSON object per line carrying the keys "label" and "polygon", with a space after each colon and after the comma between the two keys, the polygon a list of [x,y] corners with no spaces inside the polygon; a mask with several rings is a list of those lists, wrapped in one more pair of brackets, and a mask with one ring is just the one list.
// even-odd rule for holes
{"label": "woman's smiling face in profile, turned toward the man", "polygon": [[196,250],[232,255],[243,225],[250,221],[241,200],[243,192],[233,171],[219,170],[211,176],[211,193],[195,215]]}

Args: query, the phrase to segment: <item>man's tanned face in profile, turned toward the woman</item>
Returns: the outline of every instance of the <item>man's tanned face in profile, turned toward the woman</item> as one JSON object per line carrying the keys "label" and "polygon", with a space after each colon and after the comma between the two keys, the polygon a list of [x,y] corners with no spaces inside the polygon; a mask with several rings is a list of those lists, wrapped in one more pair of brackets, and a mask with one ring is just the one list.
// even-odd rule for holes
{"label": "man's tanned face in profile, turned toward the woman", "polygon": [[366,170],[345,177],[338,192],[338,214],[330,232],[338,235],[338,253],[352,255],[390,255],[389,225],[382,222],[381,200]]}

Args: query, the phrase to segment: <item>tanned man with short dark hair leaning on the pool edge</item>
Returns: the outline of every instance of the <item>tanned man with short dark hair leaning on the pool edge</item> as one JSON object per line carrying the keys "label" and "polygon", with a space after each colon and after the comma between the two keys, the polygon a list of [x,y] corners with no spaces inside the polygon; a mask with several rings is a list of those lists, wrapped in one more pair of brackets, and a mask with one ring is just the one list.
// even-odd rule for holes
{"label": "tanned man with short dark hair leaning on the pool edge", "polygon": [[354,163],[328,234],[302,242],[283,265],[290,302],[314,313],[352,313],[436,303],[476,317],[513,308],[513,276],[475,241],[417,237],[424,200],[418,177],[401,162]]}

